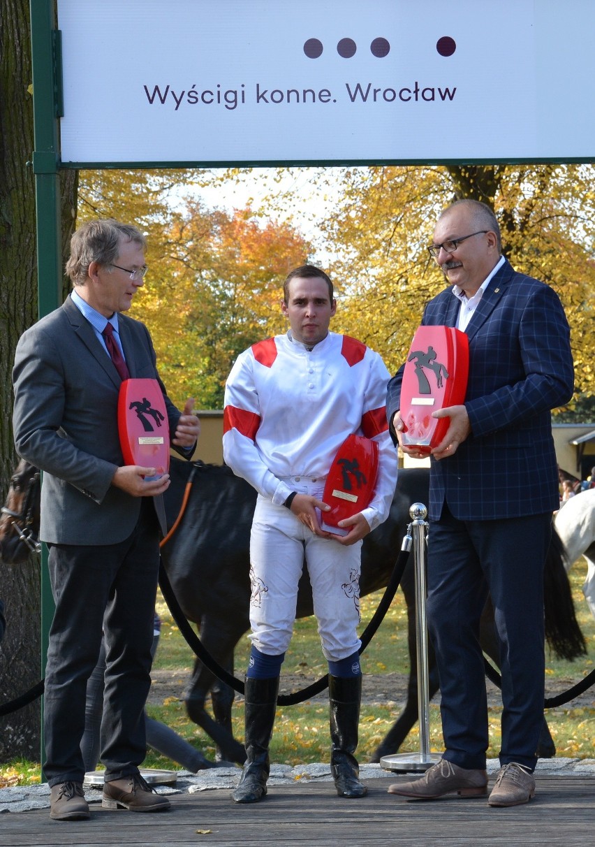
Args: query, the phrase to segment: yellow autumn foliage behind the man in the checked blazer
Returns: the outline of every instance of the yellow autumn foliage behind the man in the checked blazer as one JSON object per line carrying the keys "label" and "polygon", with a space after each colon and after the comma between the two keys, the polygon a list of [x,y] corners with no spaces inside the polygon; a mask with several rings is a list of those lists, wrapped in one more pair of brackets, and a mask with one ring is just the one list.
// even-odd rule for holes
{"label": "yellow autumn foliage behind the man in the checked blazer", "polygon": [[[404,361],[425,303],[445,284],[427,252],[443,208],[471,197],[499,219],[504,255],[517,270],[552,285],[565,306],[576,366],[576,396],[595,393],[595,191],[591,165],[452,165],[322,169],[336,202],[320,223],[343,292],[335,326]],[[288,198],[271,198],[284,206]],[[318,242],[317,242],[318,244]]]}

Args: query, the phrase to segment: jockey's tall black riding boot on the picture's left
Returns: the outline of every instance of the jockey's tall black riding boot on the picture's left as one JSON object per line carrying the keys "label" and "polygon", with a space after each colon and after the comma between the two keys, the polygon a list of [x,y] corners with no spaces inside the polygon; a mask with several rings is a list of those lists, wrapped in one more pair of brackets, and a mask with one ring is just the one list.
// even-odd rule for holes
{"label": "jockey's tall black riding boot on the picture's left", "polygon": [[273,735],[278,689],[278,677],[246,678],[244,744],[247,758],[240,784],[231,795],[234,803],[256,803],[267,794],[268,745]]}

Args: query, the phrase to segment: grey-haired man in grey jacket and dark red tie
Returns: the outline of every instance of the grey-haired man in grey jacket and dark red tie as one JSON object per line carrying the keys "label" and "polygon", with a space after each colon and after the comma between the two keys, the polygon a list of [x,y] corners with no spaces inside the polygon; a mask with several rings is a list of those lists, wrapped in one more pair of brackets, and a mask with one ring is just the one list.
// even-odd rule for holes
{"label": "grey-haired man in grey jacket and dark red tie", "polygon": [[13,374],[16,449],[44,472],[40,537],[49,548],[56,604],[47,650],[44,772],[55,820],[89,817],[80,739],[102,632],[103,805],[169,807],[139,772],[169,477],[124,465],[122,380],[157,379],[171,444],[182,455],[191,454],[200,431],[194,401],[180,413],[169,400],[145,325],[124,315],[146,274],[145,236],[135,226],[96,220],[74,233],[70,250],[66,272],[74,290],[21,336]]}

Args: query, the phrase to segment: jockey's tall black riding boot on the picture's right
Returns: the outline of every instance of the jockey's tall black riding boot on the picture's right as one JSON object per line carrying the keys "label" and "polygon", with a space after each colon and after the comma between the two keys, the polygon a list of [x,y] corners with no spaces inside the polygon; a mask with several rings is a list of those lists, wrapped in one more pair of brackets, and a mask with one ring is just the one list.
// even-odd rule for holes
{"label": "jockey's tall black riding boot on the picture's right", "polygon": [[361,674],[359,677],[328,675],[328,703],[331,726],[331,772],[339,797],[364,797],[355,748],[360,722]]}

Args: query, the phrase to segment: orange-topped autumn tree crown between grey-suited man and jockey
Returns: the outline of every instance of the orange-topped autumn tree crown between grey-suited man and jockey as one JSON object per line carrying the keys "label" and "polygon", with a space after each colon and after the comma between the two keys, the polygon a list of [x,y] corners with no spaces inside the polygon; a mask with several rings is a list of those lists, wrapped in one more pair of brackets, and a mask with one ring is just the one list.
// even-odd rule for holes
{"label": "orange-topped autumn tree crown between grey-suited man and jockey", "polygon": [[172,220],[168,248],[139,304],[142,318],[167,385],[200,408],[222,408],[238,354],[284,327],[280,283],[307,261],[309,246],[288,224],[259,221],[250,209],[207,212],[195,201]]}

